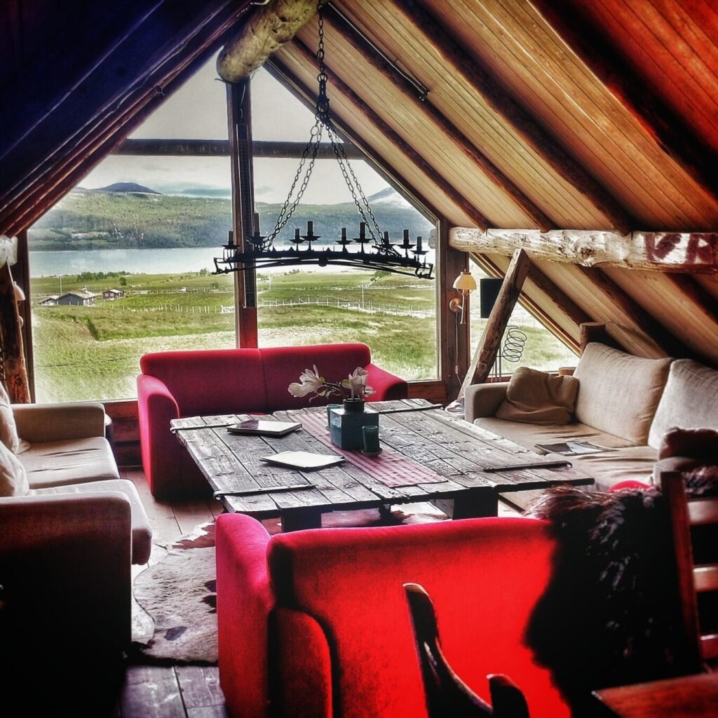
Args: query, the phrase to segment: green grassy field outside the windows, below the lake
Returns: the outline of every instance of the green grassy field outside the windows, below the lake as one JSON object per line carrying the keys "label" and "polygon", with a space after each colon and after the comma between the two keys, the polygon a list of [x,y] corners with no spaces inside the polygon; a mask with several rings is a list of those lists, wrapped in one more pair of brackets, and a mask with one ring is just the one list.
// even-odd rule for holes
{"label": "green grassy field outside the windows, below the lake", "polygon": [[[235,345],[234,314],[222,311],[233,305],[231,276],[132,274],[122,282],[118,275],[64,276],[63,292],[114,288],[124,289],[126,297],[98,299],[94,307],[38,307],[39,299],[60,294],[59,281],[32,281],[38,401],[130,398],[136,396],[144,353]],[[257,289],[261,346],[366,342],[376,363],[399,376],[437,376],[434,282],[294,270],[274,274],[271,281],[260,275]],[[574,355],[546,330],[521,328],[528,335],[521,364],[574,363]],[[481,329],[482,322],[472,322],[476,338]]]}

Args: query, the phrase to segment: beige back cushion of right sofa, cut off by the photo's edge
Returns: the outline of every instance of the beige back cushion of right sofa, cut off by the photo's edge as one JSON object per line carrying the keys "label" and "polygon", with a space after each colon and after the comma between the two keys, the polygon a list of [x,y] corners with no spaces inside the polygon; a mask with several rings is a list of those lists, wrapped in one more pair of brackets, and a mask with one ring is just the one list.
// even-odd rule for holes
{"label": "beige back cushion of right sofa, cut off by the photo's edge", "polygon": [[690,359],[673,362],[651,424],[648,444],[657,449],[663,434],[673,426],[718,429],[717,370]]}

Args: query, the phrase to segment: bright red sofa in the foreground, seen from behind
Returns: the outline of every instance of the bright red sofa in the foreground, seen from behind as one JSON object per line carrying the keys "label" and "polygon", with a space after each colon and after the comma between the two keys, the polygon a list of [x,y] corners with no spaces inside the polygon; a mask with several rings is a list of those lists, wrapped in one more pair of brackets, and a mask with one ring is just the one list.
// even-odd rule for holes
{"label": "bright red sofa in the foreground, seen from behind", "polygon": [[569,709],[523,645],[551,574],[554,540],[529,518],[270,537],[238,514],[217,521],[220,684],[235,717],[426,716],[402,584],[432,596],[442,647],[489,700],[507,673],[532,718]]}

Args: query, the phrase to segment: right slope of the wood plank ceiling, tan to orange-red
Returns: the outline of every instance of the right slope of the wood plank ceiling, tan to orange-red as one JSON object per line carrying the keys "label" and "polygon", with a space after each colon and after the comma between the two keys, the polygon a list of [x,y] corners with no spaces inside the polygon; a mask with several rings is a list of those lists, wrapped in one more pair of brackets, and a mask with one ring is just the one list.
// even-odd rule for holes
{"label": "right slope of the wood plank ceiling, tan to orange-red", "polygon": [[[450,224],[718,229],[718,183],[690,161],[712,157],[718,144],[718,14],[709,2],[690,10],[671,0],[332,4],[339,13],[327,11],[325,32],[337,122]],[[600,66],[559,16],[590,28]],[[274,58],[309,92],[316,43],[314,20]],[[426,98],[387,58],[429,90]],[[617,80],[615,67],[624,68]],[[633,107],[625,89],[637,78],[643,104]],[[685,127],[691,136],[676,139]],[[505,256],[478,259],[488,271],[508,266]],[[712,364],[717,292],[712,274],[546,261],[534,263],[524,289],[527,304],[570,344],[589,317],[639,355]]]}

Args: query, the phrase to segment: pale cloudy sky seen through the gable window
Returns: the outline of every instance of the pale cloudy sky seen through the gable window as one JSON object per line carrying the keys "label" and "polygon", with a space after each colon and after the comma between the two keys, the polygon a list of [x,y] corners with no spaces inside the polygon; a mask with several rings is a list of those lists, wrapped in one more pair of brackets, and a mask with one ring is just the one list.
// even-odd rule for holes
{"label": "pale cloudy sky seen through the gable window", "polygon": [[[331,97],[332,88],[329,93]],[[256,140],[307,141],[314,117],[266,70],[252,77],[253,136]],[[212,58],[131,134],[144,139],[227,139],[225,85],[218,80]],[[256,159],[257,202],[284,202],[297,171],[297,159]],[[369,196],[387,187],[365,162],[352,167]],[[82,182],[95,188],[113,182],[137,182],[167,194],[229,196],[230,164],[226,157],[129,157],[111,155]],[[304,193],[307,204],[349,202],[351,195],[335,160],[317,160]]]}

